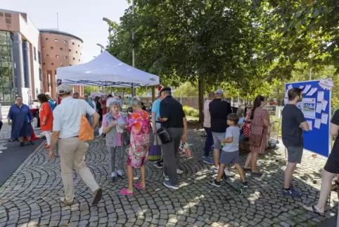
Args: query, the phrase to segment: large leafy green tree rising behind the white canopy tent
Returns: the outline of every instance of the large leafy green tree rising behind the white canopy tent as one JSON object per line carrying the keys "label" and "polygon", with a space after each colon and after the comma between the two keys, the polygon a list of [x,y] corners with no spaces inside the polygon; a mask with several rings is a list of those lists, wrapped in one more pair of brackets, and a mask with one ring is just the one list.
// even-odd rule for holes
{"label": "large leafy green tree rising behind the white canopy tent", "polygon": [[162,85],[196,83],[200,120],[205,87],[262,78],[263,27],[248,1],[139,0],[135,11],[121,18],[109,51],[130,63],[134,47],[136,67],[160,75]]}

